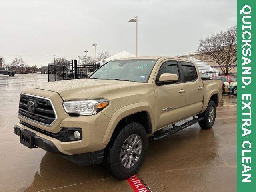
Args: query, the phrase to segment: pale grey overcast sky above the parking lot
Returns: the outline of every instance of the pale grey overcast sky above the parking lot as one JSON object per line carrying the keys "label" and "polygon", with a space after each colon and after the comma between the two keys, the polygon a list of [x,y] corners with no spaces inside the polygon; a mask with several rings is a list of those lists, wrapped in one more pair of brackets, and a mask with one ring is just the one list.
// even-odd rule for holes
{"label": "pale grey overcast sky above the parking lot", "polygon": [[104,50],[138,56],[196,51],[198,40],[236,24],[236,0],[0,0],[0,55],[44,66]]}

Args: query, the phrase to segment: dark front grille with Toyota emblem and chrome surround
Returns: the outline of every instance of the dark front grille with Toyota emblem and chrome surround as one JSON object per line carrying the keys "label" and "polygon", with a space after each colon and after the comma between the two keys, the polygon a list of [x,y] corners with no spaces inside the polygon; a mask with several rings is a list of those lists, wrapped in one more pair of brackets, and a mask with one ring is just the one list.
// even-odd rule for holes
{"label": "dark front grille with Toyota emblem and chrome surround", "polygon": [[18,113],[29,120],[46,126],[50,126],[57,119],[50,99],[29,94],[20,95]]}

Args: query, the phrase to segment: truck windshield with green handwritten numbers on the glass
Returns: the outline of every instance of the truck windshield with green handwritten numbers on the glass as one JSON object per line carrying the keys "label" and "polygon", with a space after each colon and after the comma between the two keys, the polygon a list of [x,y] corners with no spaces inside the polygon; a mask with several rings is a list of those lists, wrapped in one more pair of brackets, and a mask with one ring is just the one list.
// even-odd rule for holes
{"label": "truck windshield with green handwritten numbers on the glass", "polygon": [[110,61],[96,70],[90,79],[123,80],[146,83],[156,60]]}

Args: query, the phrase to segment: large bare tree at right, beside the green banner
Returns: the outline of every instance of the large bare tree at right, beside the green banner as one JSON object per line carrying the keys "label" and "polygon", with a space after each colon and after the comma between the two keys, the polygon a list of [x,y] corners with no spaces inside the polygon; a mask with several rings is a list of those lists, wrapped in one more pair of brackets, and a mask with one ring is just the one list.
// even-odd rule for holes
{"label": "large bare tree at right, beside the green banner", "polygon": [[236,26],[199,41],[198,51],[210,57],[227,74],[236,67]]}

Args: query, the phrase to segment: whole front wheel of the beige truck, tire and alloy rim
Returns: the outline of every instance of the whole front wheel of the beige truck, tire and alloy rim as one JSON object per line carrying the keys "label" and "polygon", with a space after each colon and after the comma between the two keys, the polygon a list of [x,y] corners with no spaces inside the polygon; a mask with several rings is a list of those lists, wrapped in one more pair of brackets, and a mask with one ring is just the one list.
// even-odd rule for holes
{"label": "whole front wheel of the beige truck, tire and alloy rim", "polygon": [[118,179],[134,175],[144,161],[147,148],[144,127],[137,122],[127,124],[106,148],[104,158],[109,172]]}

